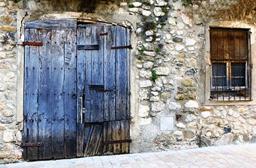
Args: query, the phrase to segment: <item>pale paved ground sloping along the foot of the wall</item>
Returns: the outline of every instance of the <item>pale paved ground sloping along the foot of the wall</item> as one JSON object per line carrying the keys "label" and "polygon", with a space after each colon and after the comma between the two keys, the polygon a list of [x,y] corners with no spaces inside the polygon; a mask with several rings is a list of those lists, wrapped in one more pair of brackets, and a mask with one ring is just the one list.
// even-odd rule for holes
{"label": "pale paved ground sloping along the foot of the wall", "polygon": [[24,162],[0,165],[2,168],[98,168],[98,167],[154,167],[154,168],[256,168],[256,144],[207,147],[179,151],[74,158],[44,162]]}

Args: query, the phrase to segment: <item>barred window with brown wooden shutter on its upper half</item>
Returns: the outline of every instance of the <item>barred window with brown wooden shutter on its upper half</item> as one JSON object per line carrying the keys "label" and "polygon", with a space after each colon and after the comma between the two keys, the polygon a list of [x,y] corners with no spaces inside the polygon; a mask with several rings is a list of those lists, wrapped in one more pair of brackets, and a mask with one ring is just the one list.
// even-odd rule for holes
{"label": "barred window with brown wooden shutter on its upper half", "polygon": [[250,32],[211,28],[211,100],[252,100]]}

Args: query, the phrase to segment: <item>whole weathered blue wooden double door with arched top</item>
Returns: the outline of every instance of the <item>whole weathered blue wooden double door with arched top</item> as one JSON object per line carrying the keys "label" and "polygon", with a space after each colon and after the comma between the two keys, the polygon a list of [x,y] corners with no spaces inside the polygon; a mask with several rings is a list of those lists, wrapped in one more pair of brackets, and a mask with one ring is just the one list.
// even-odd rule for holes
{"label": "whole weathered blue wooden double door with arched top", "polygon": [[25,160],[129,153],[129,29],[74,19],[25,26]]}

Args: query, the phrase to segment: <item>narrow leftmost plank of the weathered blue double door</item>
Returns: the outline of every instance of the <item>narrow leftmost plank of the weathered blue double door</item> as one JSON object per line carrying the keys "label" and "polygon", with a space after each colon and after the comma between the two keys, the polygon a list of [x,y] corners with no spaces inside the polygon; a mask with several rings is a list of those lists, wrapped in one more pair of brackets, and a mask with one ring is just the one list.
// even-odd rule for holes
{"label": "narrow leftmost plank of the weathered blue double door", "polygon": [[[25,29],[25,40],[30,40],[30,31]],[[28,113],[29,113],[29,70],[30,70],[30,59],[29,59],[29,46],[24,47],[24,109],[23,109],[23,137],[22,142],[28,142]],[[28,160],[28,149],[23,149],[23,158]]]}

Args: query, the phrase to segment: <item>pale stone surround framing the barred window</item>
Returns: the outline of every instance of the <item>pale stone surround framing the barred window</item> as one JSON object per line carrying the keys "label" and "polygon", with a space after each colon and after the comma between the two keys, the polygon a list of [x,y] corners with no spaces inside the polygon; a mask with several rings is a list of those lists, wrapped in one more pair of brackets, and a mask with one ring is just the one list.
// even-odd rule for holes
{"label": "pale stone surround framing the barred window", "polygon": [[251,34],[251,58],[252,65],[256,64],[256,32],[255,27],[238,21],[209,21],[205,22],[205,105],[256,105],[256,73],[254,67],[252,68],[252,100],[250,101],[234,101],[234,102],[223,102],[216,100],[209,100],[211,93],[211,68],[207,66],[211,63],[211,52],[210,52],[210,27],[221,27],[221,28],[243,28],[250,29]]}

